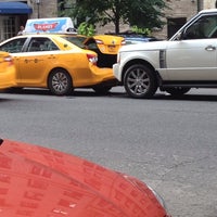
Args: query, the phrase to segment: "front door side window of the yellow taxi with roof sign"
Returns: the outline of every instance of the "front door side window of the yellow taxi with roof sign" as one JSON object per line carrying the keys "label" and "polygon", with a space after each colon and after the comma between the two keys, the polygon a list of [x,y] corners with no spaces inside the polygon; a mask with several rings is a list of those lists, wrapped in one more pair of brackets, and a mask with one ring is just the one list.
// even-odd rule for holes
{"label": "front door side window of the yellow taxi with roof sign", "polygon": [[0,50],[7,51],[9,53],[21,53],[23,52],[23,47],[26,41],[26,38],[20,38],[12,41],[9,41],[8,43],[4,43],[0,47]]}

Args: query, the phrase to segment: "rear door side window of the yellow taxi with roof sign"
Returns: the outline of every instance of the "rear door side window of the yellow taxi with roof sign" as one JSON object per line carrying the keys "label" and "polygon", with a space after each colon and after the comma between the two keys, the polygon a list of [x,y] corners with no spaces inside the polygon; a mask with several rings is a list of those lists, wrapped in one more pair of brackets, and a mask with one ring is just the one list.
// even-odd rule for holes
{"label": "rear door side window of the yellow taxi with roof sign", "polygon": [[60,50],[49,38],[33,38],[27,48],[28,52]]}

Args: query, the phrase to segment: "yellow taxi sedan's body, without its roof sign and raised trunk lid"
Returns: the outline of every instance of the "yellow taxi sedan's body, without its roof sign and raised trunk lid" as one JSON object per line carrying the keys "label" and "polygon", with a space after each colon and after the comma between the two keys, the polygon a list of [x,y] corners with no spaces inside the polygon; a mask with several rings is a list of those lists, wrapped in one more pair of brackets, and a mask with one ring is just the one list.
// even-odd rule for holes
{"label": "yellow taxi sedan's body, without its roof sign and raised trunk lid", "polygon": [[48,88],[56,95],[75,88],[106,92],[117,84],[112,67],[99,67],[98,54],[61,35],[26,34],[0,43],[16,66],[16,88]]}

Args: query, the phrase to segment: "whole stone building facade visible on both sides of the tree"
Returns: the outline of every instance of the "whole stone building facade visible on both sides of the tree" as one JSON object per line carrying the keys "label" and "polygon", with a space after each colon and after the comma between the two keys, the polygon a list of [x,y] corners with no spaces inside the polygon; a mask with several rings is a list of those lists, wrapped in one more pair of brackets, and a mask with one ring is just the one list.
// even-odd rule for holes
{"label": "whole stone building facade visible on both sides of the tree", "polygon": [[[63,0],[0,0],[0,40],[13,37],[21,25],[25,25],[28,18],[55,17],[58,16],[59,3]],[[216,8],[217,0],[165,0],[170,8],[165,11],[165,26],[155,29],[153,36],[162,39],[169,38],[190,17],[203,9]],[[28,9],[13,11],[11,3],[20,2]],[[4,9],[5,4],[9,8]],[[13,13],[14,12],[14,13]],[[122,30],[129,29],[129,26],[120,26]],[[97,34],[114,31],[114,26],[98,27]]]}

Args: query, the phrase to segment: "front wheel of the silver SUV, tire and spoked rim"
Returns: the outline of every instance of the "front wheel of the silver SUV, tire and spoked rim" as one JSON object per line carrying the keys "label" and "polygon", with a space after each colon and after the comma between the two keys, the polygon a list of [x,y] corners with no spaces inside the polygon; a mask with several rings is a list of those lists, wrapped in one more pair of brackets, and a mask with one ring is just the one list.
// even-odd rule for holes
{"label": "front wheel of the silver SUV, tire and spoked rim", "polygon": [[124,77],[126,92],[131,98],[151,98],[157,89],[154,72],[142,64],[130,66]]}

